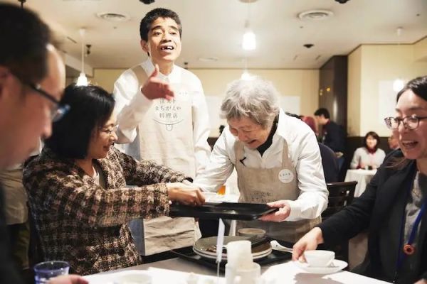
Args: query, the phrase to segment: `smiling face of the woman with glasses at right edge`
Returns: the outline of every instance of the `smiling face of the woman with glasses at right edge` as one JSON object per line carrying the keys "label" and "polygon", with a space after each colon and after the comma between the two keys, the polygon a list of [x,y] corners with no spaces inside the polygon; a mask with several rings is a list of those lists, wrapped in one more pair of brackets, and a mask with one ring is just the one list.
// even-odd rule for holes
{"label": "smiling face of the woman with glasses at right edge", "polygon": [[[427,116],[427,101],[410,89],[404,92],[396,104],[396,117]],[[427,120],[420,119],[416,129],[406,129],[403,122],[393,131],[399,138],[399,146],[405,157],[413,160],[427,160]]]}

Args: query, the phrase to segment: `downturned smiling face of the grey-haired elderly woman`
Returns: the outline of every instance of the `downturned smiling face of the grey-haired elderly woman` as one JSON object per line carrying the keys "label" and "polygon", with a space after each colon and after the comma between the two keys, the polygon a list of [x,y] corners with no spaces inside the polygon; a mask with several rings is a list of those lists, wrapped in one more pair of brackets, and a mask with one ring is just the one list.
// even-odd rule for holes
{"label": "downturned smiling face of the grey-haired elderly woman", "polygon": [[267,141],[270,134],[271,126],[263,129],[262,126],[256,124],[248,117],[241,119],[228,119],[228,126],[233,136],[236,136],[239,141],[245,144],[246,147],[255,149],[263,145]]}

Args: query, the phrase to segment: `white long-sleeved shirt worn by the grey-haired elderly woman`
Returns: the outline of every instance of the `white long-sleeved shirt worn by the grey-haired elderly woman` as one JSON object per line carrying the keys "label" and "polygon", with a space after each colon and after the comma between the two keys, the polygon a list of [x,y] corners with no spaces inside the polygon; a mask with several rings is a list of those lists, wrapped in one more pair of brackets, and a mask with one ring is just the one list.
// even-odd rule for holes
{"label": "white long-sleeved shirt worn by the grey-haired elderly woman", "polygon": [[[215,143],[206,169],[196,177],[195,185],[209,192],[216,192],[223,185],[236,162],[235,141],[236,137],[227,126]],[[284,141],[288,143],[289,157],[296,169],[297,186],[301,191],[297,200],[288,200],[291,211],[286,221],[319,217],[327,207],[328,191],[315,133],[303,121],[286,115],[280,109],[272,145],[262,156],[258,150],[245,146],[243,163],[248,168],[280,167]]]}

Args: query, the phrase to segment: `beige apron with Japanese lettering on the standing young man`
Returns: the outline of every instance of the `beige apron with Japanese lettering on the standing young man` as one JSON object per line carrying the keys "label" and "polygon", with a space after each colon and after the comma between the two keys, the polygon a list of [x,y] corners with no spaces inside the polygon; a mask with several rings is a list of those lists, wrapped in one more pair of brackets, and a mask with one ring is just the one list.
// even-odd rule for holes
{"label": "beige apron with Japanese lettering on the standing young man", "polygon": [[[142,86],[147,80],[144,69],[137,65],[132,68]],[[139,156],[180,171],[194,178],[193,124],[191,112],[191,87],[185,84],[171,84],[175,97],[154,99],[152,106],[137,127],[136,141],[139,141]],[[139,136],[144,133],[144,136]],[[138,220],[139,221],[139,220]],[[138,234],[132,229],[139,253],[149,256],[171,249],[192,246],[200,238],[199,226],[194,218],[143,219]],[[135,221],[131,227],[135,227]]]}

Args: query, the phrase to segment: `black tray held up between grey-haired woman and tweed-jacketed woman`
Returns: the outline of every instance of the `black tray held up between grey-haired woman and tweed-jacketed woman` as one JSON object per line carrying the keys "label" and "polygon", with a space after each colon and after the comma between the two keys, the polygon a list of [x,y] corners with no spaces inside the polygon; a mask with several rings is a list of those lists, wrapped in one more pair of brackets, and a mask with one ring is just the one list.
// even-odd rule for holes
{"label": "black tray held up between grey-haired woman and tweed-jacketed woman", "polygon": [[257,203],[222,202],[217,204],[204,204],[196,207],[172,203],[169,216],[250,221],[275,211],[278,211],[278,208],[271,208],[268,207],[267,204]]}

